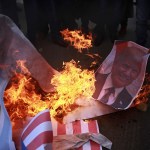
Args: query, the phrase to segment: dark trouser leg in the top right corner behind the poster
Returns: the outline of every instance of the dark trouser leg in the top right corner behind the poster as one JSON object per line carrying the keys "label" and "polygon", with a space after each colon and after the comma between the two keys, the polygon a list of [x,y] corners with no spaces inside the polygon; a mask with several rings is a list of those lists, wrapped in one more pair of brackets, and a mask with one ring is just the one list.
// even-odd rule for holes
{"label": "dark trouser leg in the top right corner behind the poster", "polygon": [[136,6],[136,42],[146,46],[148,20],[150,18],[150,1],[137,0]]}

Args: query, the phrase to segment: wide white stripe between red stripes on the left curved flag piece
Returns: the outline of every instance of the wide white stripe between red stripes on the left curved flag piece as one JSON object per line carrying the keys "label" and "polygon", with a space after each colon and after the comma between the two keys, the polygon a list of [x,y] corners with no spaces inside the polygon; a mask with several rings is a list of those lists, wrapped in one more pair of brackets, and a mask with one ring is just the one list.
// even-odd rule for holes
{"label": "wide white stripe between red stripes on the left curved flag piece", "polygon": [[34,138],[36,138],[40,133],[44,131],[52,131],[52,125],[50,121],[46,121],[38,125],[36,128],[30,132],[30,134],[23,140],[25,146],[29,145]]}

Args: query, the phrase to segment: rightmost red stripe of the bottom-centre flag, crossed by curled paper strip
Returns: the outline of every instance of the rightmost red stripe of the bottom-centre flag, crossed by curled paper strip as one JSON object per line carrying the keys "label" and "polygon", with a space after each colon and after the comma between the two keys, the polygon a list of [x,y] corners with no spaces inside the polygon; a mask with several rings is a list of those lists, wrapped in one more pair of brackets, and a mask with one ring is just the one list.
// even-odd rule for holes
{"label": "rightmost red stripe of the bottom-centre flag, crossed by curled paper strip", "polygon": [[[99,130],[97,129],[97,121],[92,120],[88,123],[89,132],[90,133],[99,133]],[[100,150],[100,145],[95,143],[94,141],[90,140],[91,144],[91,150]]]}

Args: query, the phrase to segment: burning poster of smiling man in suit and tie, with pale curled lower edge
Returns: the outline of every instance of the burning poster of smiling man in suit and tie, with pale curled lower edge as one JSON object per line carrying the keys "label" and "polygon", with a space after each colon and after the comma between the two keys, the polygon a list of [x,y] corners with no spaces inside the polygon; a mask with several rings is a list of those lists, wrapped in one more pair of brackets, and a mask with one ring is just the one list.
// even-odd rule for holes
{"label": "burning poster of smiling man in suit and tie, with pale curled lower edge", "polygon": [[116,42],[95,73],[95,100],[84,105],[81,99],[82,107],[65,116],[64,122],[93,118],[135,106],[137,101],[134,100],[145,78],[148,51],[134,42]]}

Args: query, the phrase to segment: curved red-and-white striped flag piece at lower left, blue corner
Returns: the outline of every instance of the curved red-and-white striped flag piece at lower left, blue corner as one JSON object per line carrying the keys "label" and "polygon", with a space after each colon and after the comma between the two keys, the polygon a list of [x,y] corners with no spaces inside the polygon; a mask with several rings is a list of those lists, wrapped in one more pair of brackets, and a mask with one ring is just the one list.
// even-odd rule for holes
{"label": "curved red-and-white striped flag piece at lower left, blue corner", "polygon": [[50,111],[38,113],[25,127],[22,135],[22,150],[52,149],[53,131]]}

